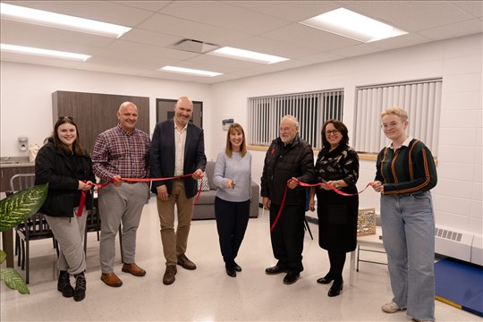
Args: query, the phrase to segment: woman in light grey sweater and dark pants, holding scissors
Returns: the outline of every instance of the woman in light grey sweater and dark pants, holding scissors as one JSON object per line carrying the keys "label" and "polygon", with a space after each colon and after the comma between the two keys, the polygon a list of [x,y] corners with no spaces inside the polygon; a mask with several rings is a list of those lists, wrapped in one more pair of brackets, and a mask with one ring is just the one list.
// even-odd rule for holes
{"label": "woman in light grey sweater and dark pants, holding scissors", "polygon": [[226,134],[226,148],[216,158],[213,175],[216,228],[226,274],[236,277],[242,267],[234,259],[240,250],[250,216],[251,155],[242,125],[233,123]]}

